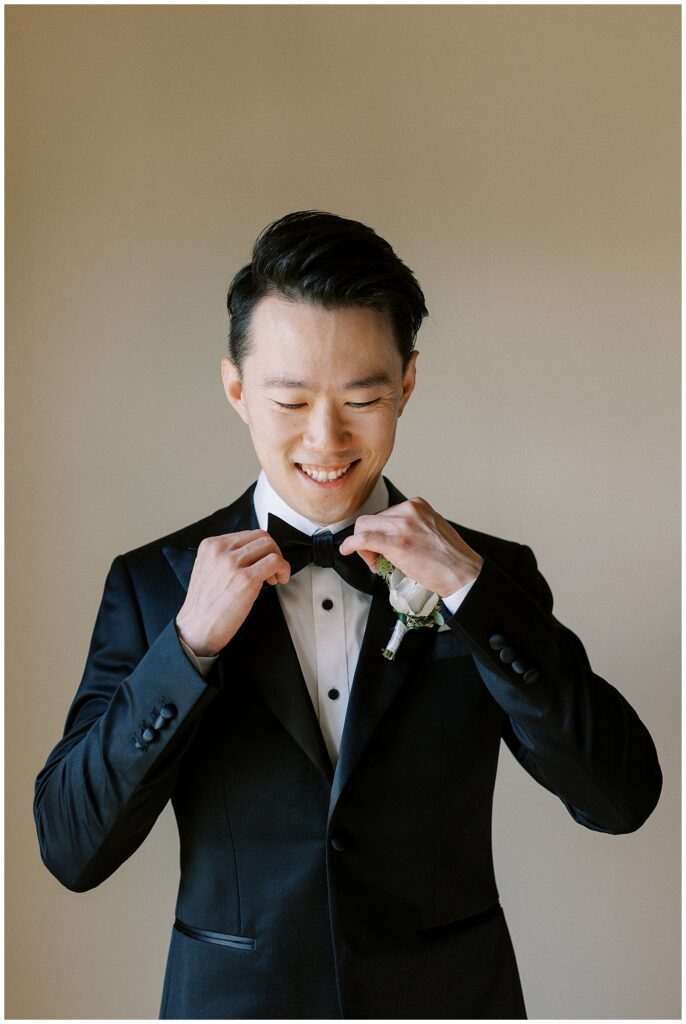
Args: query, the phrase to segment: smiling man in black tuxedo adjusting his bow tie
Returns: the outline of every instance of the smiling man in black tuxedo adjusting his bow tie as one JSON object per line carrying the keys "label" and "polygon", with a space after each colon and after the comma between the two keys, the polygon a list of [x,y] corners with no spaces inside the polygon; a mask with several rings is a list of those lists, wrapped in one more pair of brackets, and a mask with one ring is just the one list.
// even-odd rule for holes
{"label": "smiling man in black tuxedo adjusting his bow tie", "polygon": [[[228,309],[224,388],[262,472],[114,560],[36,783],[42,857],[90,889],[172,800],[163,1018],[523,1018],[490,851],[501,739],[615,834],[658,799],[652,740],[528,548],[382,476],[426,315],[390,246],[290,214]],[[380,555],[442,599],[394,660]]]}

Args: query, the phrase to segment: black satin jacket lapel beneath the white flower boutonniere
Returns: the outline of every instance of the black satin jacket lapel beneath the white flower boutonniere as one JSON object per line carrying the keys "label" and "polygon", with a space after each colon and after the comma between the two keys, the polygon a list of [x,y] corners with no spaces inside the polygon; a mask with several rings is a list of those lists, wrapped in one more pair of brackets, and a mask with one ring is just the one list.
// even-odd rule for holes
{"label": "black satin jacket lapel beneath the white flower boutonniere", "polygon": [[388,588],[379,578],[352,681],[329,803],[329,819],[374,731],[431,641],[431,630],[413,630],[405,634],[394,660],[389,662],[381,652],[394,625],[395,612],[388,601]]}

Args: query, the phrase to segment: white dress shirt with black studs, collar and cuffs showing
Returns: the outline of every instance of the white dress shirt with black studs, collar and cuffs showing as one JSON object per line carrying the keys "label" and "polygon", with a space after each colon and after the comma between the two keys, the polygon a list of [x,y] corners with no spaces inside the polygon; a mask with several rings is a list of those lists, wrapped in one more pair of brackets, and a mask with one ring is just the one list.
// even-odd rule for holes
{"label": "white dress shirt with black studs, collar and cuffs showing", "polygon": [[[388,508],[388,489],[380,476],[370,497],[353,516],[335,523],[315,523],[287,505],[262,470],[253,501],[260,529],[266,530],[267,516],[271,513],[311,537],[325,529],[336,534],[359,515],[374,515]],[[443,598],[451,612],[457,611],[471,587],[469,583]],[[335,569],[311,564],[292,575],[288,584],[277,584],[276,594],[329,756],[335,765],[372,595],[351,587]],[[182,640],[181,645],[196,668],[207,675],[216,657],[198,657]]]}

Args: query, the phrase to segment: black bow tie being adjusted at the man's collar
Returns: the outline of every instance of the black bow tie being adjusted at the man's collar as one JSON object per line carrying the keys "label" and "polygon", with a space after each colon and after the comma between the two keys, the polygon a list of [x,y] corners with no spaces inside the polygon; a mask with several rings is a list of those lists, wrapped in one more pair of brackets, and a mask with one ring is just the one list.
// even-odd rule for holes
{"label": "black bow tie being adjusted at the man's collar", "polygon": [[321,565],[324,568],[336,569],[338,574],[356,590],[366,594],[374,593],[376,573],[353,551],[351,555],[342,555],[339,548],[346,537],[355,530],[355,524],[332,534],[330,529],[308,537],[295,526],[284,522],[278,516],[267,515],[267,534],[272,537],[287,562],[291,565],[291,575],[295,575],[305,565]]}

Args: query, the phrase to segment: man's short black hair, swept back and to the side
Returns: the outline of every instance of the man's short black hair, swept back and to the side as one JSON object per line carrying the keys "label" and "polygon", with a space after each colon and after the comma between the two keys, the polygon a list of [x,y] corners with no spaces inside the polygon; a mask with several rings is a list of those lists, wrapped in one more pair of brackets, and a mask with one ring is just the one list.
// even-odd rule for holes
{"label": "man's short black hair, swept back and to the side", "polygon": [[233,278],[226,300],[228,352],[239,373],[250,349],[255,305],[273,294],[327,309],[369,306],[384,313],[403,372],[428,315],[415,274],[381,236],[357,220],[320,210],[287,213],[267,224],[255,242],[252,262]]}

